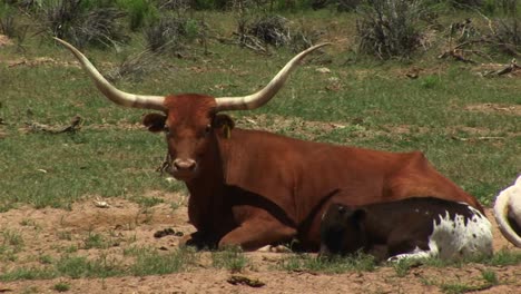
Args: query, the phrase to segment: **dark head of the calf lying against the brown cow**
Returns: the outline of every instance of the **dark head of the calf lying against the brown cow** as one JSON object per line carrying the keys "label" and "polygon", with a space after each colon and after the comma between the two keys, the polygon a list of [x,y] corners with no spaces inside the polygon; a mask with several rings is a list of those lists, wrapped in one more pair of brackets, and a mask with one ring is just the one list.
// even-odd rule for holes
{"label": "dark head of the calf lying against the brown cow", "polygon": [[364,246],[362,220],[366,212],[333,203],[321,223],[320,256],[331,257],[355,253]]}

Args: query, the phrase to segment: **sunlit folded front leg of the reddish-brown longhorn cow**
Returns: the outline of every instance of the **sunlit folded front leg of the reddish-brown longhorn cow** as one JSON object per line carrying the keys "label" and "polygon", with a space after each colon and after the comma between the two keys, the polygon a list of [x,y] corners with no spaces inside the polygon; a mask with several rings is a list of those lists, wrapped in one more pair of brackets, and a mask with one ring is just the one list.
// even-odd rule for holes
{"label": "sunlit folded front leg of the reddish-brown longhorn cow", "polygon": [[219,248],[240,246],[244,251],[256,251],[263,246],[282,243],[296,236],[296,229],[277,219],[253,218],[226,234]]}

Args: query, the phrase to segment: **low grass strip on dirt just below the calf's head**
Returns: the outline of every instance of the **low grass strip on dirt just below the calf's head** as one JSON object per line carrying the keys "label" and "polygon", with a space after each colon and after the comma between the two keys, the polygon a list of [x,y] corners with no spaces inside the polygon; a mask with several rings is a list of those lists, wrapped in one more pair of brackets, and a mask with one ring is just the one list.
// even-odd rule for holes
{"label": "low grass strip on dirt just below the calf's head", "polygon": [[314,257],[308,254],[296,254],[278,262],[278,267],[291,272],[323,272],[338,274],[344,272],[372,272],[376,268],[374,257],[366,254],[335,256],[331,259]]}

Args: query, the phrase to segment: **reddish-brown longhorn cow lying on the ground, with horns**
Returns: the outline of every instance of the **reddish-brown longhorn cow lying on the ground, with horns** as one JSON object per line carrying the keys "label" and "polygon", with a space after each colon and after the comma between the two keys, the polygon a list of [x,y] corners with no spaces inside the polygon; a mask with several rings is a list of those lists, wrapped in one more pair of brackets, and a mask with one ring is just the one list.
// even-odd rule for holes
{"label": "reddish-brown longhorn cow lying on the ground, with horns", "polygon": [[[197,228],[189,241],[194,245],[240,245],[252,251],[297,238],[302,249],[317,251],[321,215],[331,202],[367,204],[433,195],[481,209],[475,198],[439,174],[419,151],[386,153],[303,141],[234,128],[233,120],[219,114],[266,104],[298,62],[324,45],[295,56],[258,92],[214,98],[120,91],[80,51],[57,40],[76,56],[107,98],[164,112],[147,115],[144,125],[166,134],[167,171],[185,182],[190,194],[188,217]],[[345,199],[331,194],[338,187],[343,187]]]}

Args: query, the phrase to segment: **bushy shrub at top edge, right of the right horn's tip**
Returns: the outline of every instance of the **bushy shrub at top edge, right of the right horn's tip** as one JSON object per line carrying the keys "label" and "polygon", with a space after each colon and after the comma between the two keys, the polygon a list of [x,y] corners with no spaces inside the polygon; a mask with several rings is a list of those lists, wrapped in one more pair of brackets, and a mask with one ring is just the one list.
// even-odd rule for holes
{"label": "bushy shrub at top edge, right of the right horn's tip", "polygon": [[356,21],[358,50],[382,59],[409,58],[420,46],[421,0],[366,0]]}

